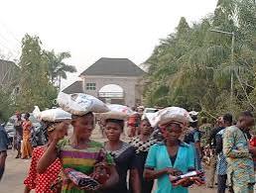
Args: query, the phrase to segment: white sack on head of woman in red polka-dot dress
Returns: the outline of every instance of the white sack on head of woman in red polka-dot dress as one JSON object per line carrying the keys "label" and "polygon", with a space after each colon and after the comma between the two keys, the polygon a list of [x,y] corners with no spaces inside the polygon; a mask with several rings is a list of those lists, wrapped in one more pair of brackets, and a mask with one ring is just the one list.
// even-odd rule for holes
{"label": "white sack on head of woman in red polka-dot dress", "polygon": [[48,122],[62,122],[64,120],[70,120],[71,114],[65,112],[63,109],[48,109],[46,111],[40,111],[38,106],[35,106],[33,111],[34,117],[41,121]]}

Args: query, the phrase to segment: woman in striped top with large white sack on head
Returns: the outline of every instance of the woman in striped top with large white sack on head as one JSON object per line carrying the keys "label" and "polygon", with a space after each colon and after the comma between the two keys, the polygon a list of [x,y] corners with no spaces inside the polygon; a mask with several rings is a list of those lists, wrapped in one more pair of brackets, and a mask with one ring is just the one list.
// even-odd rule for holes
{"label": "woman in striped top with large white sack on head", "polygon": [[[61,131],[56,133],[53,142],[39,160],[38,172],[45,172],[57,158],[60,158],[65,174],[63,193],[86,193],[114,185],[118,181],[118,174],[112,157],[105,152],[103,145],[90,140],[94,128],[92,112],[106,112],[104,104],[92,96],[81,93],[71,95],[61,93],[58,101],[64,110],[72,114],[73,134],[62,140]],[[107,165],[108,178],[94,186],[95,180],[93,181],[89,175],[95,176],[94,167],[102,160]],[[83,182],[88,184],[84,185]]]}

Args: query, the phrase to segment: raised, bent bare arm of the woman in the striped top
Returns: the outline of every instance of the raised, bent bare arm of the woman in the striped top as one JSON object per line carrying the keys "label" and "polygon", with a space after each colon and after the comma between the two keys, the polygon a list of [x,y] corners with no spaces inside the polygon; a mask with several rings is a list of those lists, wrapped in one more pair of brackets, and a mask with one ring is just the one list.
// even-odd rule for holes
{"label": "raised, bent bare arm of the woman in the striped top", "polygon": [[58,157],[58,150],[57,150],[57,144],[59,141],[53,141],[49,147],[47,148],[46,152],[43,154],[43,156],[39,159],[38,165],[37,165],[37,171],[38,173],[44,173],[47,168],[55,162],[55,160]]}

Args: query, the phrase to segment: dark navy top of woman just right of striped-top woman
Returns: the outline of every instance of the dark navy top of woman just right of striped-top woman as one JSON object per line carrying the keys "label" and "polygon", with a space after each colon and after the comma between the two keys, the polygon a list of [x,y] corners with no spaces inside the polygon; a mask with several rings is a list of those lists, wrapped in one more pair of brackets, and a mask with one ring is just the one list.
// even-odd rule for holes
{"label": "dark navy top of woman just right of striped-top woman", "polygon": [[132,145],[122,143],[118,150],[109,151],[115,161],[116,170],[119,174],[119,182],[112,188],[102,190],[103,193],[127,193],[127,171],[136,169],[137,163],[135,159],[135,149]]}

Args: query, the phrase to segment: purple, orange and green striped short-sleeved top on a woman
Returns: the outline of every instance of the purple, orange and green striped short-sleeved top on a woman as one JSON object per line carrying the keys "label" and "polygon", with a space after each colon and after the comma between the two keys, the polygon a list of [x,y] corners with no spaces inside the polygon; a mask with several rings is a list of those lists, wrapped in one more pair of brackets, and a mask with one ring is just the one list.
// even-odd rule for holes
{"label": "purple, orange and green striped short-sleeved top on a woman", "polygon": [[[71,146],[69,139],[64,139],[58,144],[59,157],[63,168],[72,168],[86,175],[93,172],[96,162],[100,161],[102,154],[103,159],[108,164],[114,164],[112,156],[105,151],[103,145],[90,141],[84,149],[76,149]],[[86,193],[74,186],[70,180],[64,180],[63,193]]]}

